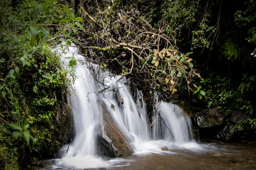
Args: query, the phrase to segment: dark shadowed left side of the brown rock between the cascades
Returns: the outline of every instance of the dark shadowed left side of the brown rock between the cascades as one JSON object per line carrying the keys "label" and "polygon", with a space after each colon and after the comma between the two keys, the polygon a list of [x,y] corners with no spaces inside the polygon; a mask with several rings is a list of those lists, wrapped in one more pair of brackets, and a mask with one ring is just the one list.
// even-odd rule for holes
{"label": "dark shadowed left side of the brown rock between the cascades", "polygon": [[103,157],[115,158],[113,147],[101,135],[97,136],[97,154]]}

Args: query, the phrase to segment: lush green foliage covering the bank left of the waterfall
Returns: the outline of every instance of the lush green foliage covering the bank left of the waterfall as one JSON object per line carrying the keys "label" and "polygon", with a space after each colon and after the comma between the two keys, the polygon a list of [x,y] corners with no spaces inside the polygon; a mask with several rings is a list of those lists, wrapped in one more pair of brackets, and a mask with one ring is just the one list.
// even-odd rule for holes
{"label": "lush green foliage covering the bank left of the waterfall", "polygon": [[[52,138],[52,124],[58,98],[65,95],[60,92],[69,83],[65,77],[72,70],[60,69],[52,46],[59,44],[60,37],[68,41],[67,34],[83,27],[82,18],[64,0],[24,0],[16,6],[4,2],[0,5],[0,169],[18,169],[18,163],[42,159],[46,148],[60,147]],[[71,65],[75,64],[73,60]]]}

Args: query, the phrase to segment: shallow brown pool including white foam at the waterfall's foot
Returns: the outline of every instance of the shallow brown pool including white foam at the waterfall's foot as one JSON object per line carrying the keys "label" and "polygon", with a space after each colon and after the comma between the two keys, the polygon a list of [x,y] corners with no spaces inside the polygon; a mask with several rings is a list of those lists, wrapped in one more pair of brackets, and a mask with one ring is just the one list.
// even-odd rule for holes
{"label": "shallow brown pool including white foam at the waterfall's foot", "polygon": [[[164,146],[164,143],[163,143]],[[169,150],[168,150],[169,149]],[[256,170],[256,145],[247,143],[187,143],[162,148],[164,151],[138,152],[126,159],[112,159],[103,161],[105,168],[98,170]],[[155,153],[154,153],[155,152]],[[94,160],[91,160],[92,162]],[[95,161],[98,161],[95,159]],[[100,162],[99,162],[100,163]],[[45,166],[43,169],[80,170],[83,164],[77,160],[77,167]],[[88,166],[90,167],[90,166]],[[102,167],[102,166],[101,166]],[[84,169],[83,170],[90,170]]]}

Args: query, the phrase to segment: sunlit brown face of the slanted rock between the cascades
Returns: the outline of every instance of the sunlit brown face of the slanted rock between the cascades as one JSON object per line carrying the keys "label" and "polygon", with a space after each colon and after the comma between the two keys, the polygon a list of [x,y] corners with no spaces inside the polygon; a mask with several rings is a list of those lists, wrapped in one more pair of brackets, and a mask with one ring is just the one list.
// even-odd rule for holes
{"label": "sunlit brown face of the slanted rock between the cascades", "polygon": [[102,102],[102,124],[103,124],[103,137],[108,143],[111,144],[116,157],[128,157],[132,155],[133,149],[130,146],[130,140],[124,136],[119,130],[118,126],[110,116],[105,104]]}

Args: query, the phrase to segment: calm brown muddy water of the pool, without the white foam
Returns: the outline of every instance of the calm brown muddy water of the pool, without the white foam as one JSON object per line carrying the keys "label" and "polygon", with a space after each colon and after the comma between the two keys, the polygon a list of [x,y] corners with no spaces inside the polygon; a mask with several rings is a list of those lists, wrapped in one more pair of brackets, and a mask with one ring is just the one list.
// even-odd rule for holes
{"label": "calm brown muddy water of the pool, without the white foam", "polygon": [[129,165],[122,170],[256,170],[256,145],[230,143],[205,145],[202,151],[175,150],[164,154],[151,154],[130,157]]}

